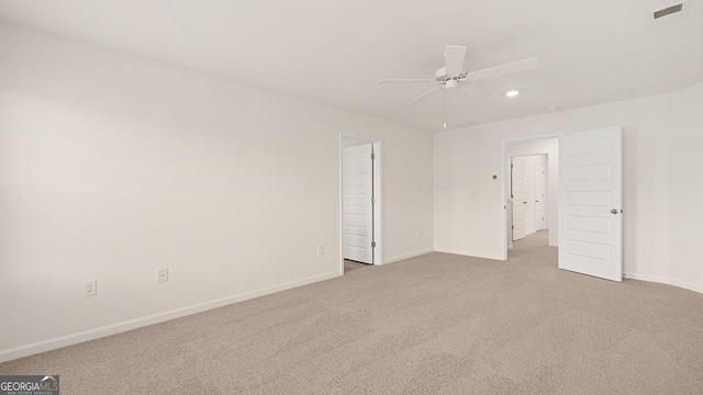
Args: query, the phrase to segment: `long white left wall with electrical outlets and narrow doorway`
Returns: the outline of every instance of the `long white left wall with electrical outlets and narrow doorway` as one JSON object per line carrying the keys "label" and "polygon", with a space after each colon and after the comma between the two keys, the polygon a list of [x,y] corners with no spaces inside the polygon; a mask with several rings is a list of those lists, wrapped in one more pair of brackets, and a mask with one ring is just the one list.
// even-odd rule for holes
{"label": "long white left wall with electrical outlets and narrow doorway", "polygon": [[432,250],[431,133],[0,24],[0,360],[339,275],[339,132]]}

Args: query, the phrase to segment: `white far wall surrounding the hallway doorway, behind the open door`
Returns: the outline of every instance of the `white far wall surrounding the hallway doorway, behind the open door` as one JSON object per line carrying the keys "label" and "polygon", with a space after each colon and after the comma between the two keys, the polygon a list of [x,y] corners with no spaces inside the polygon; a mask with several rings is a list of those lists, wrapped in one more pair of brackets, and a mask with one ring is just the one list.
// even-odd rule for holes
{"label": "white far wall surrounding the hallway doorway, behind the open door", "polygon": [[[624,270],[670,279],[668,100],[665,94],[436,133],[435,249],[503,257],[501,185],[491,179],[501,169],[503,140],[622,125]],[[695,281],[703,285],[703,278]]]}

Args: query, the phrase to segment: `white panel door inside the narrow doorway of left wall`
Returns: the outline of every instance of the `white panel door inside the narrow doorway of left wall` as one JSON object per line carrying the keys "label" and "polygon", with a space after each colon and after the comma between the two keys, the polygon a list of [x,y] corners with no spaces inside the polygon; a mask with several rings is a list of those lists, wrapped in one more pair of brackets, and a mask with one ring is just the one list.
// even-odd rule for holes
{"label": "white panel door inside the narrow doorway of left wall", "polygon": [[344,258],[373,263],[373,146],[344,148],[342,217]]}

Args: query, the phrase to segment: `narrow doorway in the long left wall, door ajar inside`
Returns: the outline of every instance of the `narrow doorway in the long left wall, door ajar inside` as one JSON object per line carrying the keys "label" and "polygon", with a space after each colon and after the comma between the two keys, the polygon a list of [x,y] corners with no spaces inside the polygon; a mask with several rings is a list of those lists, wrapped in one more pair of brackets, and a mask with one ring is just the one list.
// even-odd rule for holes
{"label": "narrow doorway in the long left wall, door ajar inside", "polygon": [[339,271],[382,263],[380,139],[339,134]]}

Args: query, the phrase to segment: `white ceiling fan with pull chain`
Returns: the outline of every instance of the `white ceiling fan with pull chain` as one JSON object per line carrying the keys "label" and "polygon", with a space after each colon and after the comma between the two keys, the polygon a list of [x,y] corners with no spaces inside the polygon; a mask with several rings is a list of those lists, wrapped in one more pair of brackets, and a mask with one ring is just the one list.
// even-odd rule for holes
{"label": "white ceiling fan with pull chain", "polygon": [[[457,89],[461,90],[462,87],[472,81],[478,81],[487,78],[493,78],[499,76],[504,76],[507,74],[513,74],[517,71],[524,71],[534,69],[539,66],[539,61],[537,58],[529,58],[517,60],[500,66],[489,67],[487,69],[477,70],[469,72],[464,65],[464,60],[466,58],[466,47],[461,45],[447,45],[444,49],[444,67],[440,67],[435,72],[434,79],[380,79],[379,83],[426,83],[426,82],[436,82],[437,86],[432,88],[431,90],[424,92],[417,98],[413,99],[408,103],[408,105],[414,104],[419,100],[426,98],[427,95],[444,89],[445,92],[447,89]],[[446,95],[445,95],[445,117],[446,117]],[[445,122],[445,128],[447,124]]]}

